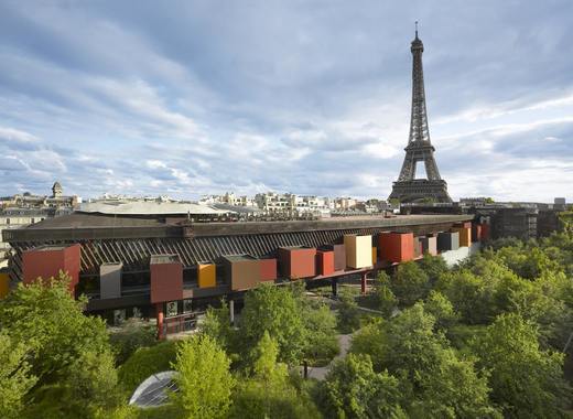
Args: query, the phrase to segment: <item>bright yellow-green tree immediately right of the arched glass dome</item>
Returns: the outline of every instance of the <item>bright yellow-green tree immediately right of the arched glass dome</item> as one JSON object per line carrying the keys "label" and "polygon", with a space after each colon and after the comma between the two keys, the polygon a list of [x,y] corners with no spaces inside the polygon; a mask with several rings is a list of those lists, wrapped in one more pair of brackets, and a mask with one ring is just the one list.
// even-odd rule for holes
{"label": "bright yellow-green tree immediately right of the arched glass dome", "polygon": [[213,337],[199,334],[179,347],[173,368],[179,373],[175,404],[187,418],[224,418],[235,379],[230,361]]}

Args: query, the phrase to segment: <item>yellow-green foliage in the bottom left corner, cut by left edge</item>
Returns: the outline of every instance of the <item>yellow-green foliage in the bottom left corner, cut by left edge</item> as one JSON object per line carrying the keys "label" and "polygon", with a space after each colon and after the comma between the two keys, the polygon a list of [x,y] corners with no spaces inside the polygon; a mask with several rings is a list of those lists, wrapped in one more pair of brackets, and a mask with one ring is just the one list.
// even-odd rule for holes
{"label": "yellow-green foliage in the bottom left corner, cut by left edge", "polygon": [[26,362],[29,351],[24,344],[14,344],[0,332],[0,417],[17,418],[23,408],[23,398],[35,385]]}

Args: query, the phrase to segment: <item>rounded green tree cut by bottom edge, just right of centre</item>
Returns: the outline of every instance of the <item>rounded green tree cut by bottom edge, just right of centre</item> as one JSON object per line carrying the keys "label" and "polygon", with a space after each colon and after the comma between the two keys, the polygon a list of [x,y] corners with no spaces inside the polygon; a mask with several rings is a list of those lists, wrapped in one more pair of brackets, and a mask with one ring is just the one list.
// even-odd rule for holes
{"label": "rounded green tree cut by bottom edge, just right of centre", "polygon": [[327,418],[407,418],[398,379],[386,372],[375,373],[368,355],[337,359],[322,393]]}

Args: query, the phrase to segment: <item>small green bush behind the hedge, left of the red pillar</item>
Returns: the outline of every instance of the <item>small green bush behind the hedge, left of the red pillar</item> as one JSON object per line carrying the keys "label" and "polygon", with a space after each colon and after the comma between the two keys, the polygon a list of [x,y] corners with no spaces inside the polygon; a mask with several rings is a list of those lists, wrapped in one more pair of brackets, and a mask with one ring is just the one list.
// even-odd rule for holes
{"label": "small green bush behind the hedge, left of the red pillar", "polygon": [[143,324],[138,319],[129,319],[119,330],[109,334],[109,342],[116,353],[116,364],[123,364],[138,347],[155,344],[155,326]]}

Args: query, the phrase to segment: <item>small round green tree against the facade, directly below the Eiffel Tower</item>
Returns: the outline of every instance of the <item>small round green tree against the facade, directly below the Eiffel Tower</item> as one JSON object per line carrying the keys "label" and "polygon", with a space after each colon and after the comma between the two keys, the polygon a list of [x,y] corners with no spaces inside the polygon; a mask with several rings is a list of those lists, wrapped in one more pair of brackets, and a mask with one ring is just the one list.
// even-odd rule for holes
{"label": "small round green tree against the facade, directly below the Eiffel Tower", "polygon": [[402,305],[412,305],[429,291],[429,277],[414,261],[401,264],[392,277],[392,291]]}

